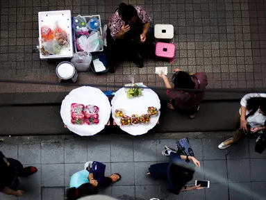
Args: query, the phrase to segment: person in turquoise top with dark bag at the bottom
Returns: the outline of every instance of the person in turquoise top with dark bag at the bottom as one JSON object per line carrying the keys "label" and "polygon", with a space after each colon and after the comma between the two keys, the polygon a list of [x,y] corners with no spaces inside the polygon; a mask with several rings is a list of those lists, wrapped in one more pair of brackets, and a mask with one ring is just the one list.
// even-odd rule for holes
{"label": "person in turquoise top with dark bag at the bottom", "polygon": [[70,178],[67,200],[76,200],[92,194],[97,194],[98,188],[106,188],[121,179],[120,174],[106,177],[106,165],[97,161],[85,163],[84,170],[76,172]]}

